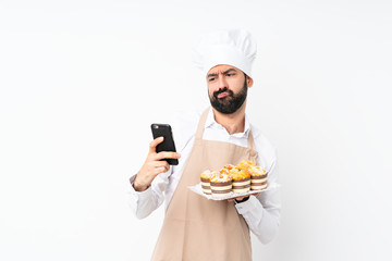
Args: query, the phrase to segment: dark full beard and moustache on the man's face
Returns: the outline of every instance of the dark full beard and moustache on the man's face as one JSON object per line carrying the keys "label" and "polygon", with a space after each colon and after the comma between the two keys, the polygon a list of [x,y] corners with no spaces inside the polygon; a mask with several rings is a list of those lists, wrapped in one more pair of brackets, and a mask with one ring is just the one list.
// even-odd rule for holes
{"label": "dark full beard and moustache on the man's face", "polygon": [[[218,98],[218,95],[222,92],[228,92],[229,95],[223,98]],[[209,96],[211,105],[213,109],[223,114],[232,114],[236,112],[246,100],[247,96],[247,84],[246,78],[244,82],[244,87],[240,90],[238,94],[234,95],[234,92],[226,87],[213,91],[212,96]]]}

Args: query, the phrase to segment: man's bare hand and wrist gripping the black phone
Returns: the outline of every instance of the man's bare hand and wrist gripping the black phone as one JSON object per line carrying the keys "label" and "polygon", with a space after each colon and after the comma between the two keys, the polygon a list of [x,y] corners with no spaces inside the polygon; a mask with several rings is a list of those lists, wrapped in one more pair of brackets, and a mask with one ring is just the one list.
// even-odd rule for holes
{"label": "man's bare hand and wrist gripping the black phone", "polygon": [[133,184],[136,191],[146,190],[158,174],[169,171],[169,163],[164,160],[161,161],[161,159],[179,159],[181,157],[180,153],[170,151],[161,151],[157,153],[157,145],[162,141],[163,137],[158,137],[150,142],[147,159],[139,172],[136,174],[136,178]]}

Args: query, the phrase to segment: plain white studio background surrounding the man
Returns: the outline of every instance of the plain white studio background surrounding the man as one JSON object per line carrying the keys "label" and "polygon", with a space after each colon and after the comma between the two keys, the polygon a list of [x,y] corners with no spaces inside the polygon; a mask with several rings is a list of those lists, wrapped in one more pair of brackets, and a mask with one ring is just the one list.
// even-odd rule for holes
{"label": "plain white studio background surrounding the man", "polygon": [[[205,108],[191,48],[258,41],[248,114],[279,151],[280,233],[254,260],[391,260],[390,1],[0,1],[0,260],[148,260],[163,209],[127,178],[149,125]],[[253,238],[255,239],[255,238]]]}

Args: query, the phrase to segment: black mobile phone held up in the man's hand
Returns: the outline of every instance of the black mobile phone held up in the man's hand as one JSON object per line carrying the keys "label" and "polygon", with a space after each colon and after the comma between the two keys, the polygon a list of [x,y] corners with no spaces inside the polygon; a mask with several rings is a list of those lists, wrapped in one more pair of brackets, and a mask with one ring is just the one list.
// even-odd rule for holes
{"label": "black mobile phone held up in the man's hand", "polygon": [[[157,146],[157,152],[161,151],[174,151],[175,152],[175,145],[173,139],[173,134],[171,130],[171,126],[169,124],[159,124],[152,123],[151,124],[151,132],[154,139],[163,136],[163,141]],[[162,159],[166,160],[169,165],[177,165],[177,159]]]}

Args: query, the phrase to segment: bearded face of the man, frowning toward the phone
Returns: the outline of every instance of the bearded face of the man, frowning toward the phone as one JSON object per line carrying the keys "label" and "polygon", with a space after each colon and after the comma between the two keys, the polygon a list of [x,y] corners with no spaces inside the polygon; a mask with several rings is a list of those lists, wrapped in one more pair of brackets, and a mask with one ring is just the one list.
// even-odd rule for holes
{"label": "bearded face of the man, frowning toward the phone", "polygon": [[253,80],[241,70],[222,64],[207,73],[207,85],[212,108],[223,114],[232,114],[244,104]]}

